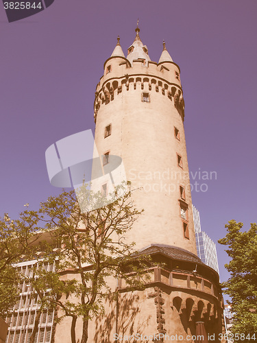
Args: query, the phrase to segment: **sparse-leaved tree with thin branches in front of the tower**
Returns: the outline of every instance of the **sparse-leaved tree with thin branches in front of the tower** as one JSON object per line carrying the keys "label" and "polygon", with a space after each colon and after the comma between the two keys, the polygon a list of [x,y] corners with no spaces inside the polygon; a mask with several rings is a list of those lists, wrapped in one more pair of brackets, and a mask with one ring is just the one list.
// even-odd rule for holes
{"label": "sparse-leaved tree with thin branches in front of the tower", "polygon": [[[80,342],[86,343],[89,320],[104,313],[103,301],[108,296],[117,296],[117,290],[108,284],[109,277],[119,278],[122,274],[130,289],[144,285],[143,270],[148,262],[145,257],[135,259],[134,243],[125,240],[142,211],[134,208],[130,185],[119,199],[117,192],[119,189],[110,201],[84,186],[79,202],[74,191],[64,191],[40,206],[38,215],[45,222],[44,230],[61,248],[53,250],[45,244],[45,256],[38,262],[36,277],[30,282],[41,294],[41,311],[58,308],[62,316],[72,318],[72,343],[76,342],[77,318],[83,320]],[[82,203],[93,210],[82,211]],[[51,272],[44,269],[45,263],[53,265]],[[63,278],[64,274],[69,277]]]}

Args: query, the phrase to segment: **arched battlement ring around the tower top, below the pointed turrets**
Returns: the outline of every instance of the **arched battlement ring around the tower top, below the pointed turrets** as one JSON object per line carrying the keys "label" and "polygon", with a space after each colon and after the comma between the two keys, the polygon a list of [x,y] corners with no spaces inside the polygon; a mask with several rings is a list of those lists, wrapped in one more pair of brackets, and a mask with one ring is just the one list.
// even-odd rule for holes
{"label": "arched battlement ring around the tower top, below the pointed turrets", "polygon": [[108,105],[121,93],[130,90],[160,93],[173,102],[184,121],[184,98],[180,83],[180,68],[174,62],[130,61],[123,57],[111,57],[104,64],[104,74],[97,84],[94,117],[99,108]]}

